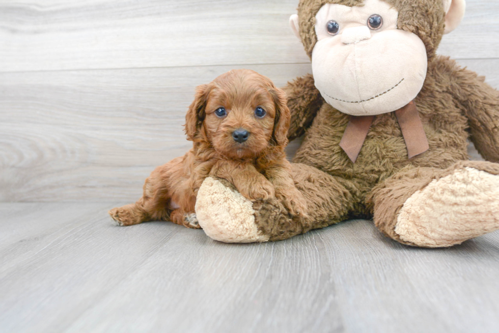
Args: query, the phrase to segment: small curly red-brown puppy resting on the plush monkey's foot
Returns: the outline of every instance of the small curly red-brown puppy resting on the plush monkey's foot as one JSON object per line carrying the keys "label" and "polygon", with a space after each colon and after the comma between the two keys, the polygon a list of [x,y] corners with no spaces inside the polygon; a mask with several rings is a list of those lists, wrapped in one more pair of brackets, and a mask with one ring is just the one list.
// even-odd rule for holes
{"label": "small curly red-brown puppy resting on the plush monkey's foot", "polygon": [[222,74],[196,88],[185,119],[192,149],[157,167],[137,202],[109,211],[120,225],[170,220],[199,228],[196,194],[208,176],[227,179],[247,199],[275,196],[291,214],[306,213],[284,151],[290,123],[286,95],[270,79],[251,70]]}

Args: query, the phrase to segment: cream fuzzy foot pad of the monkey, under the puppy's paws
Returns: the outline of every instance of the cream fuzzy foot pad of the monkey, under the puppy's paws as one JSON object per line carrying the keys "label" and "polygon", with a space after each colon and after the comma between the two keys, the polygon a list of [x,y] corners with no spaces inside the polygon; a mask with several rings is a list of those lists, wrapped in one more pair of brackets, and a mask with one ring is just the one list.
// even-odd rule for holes
{"label": "cream fuzzy foot pad of the monkey, under the puppy's paws", "polygon": [[196,216],[204,232],[215,240],[253,243],[269,239],[258,231],[253,202],[211,177],[198,191]]}

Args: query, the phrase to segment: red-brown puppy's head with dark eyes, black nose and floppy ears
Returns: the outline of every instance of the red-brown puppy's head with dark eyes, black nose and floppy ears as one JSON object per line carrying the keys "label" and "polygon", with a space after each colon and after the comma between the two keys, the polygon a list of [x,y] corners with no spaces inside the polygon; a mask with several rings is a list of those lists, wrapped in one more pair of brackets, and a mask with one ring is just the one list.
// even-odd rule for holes
{"label": "red-brown puppy's head with dark eyes, black nose and floppy ears", "polygon": [[290,112],[283,90],[251,70],[232,70],[197,88],[185,130],[226,157],[252,159],[286,146]]}

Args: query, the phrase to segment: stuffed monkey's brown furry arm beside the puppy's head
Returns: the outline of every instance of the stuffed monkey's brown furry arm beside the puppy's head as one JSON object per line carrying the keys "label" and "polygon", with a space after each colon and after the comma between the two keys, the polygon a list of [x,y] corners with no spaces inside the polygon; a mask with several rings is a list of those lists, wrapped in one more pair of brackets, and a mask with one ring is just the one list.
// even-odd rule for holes
{"label": "stuffed monkey's brown furry arm beside the puppy's head", "polygon": [[288,107],[291,111],[288,138],[293,140],[305,133],[305,130],[312,125],[312,121],[324,100],[314,85],[312,74],[288,82],[283,90],[288,97]]}

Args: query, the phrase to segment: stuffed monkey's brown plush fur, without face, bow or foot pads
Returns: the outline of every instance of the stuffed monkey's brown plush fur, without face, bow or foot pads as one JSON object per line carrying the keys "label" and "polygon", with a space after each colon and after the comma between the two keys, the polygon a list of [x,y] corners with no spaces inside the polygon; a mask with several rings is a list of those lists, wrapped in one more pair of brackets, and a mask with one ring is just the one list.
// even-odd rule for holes
{"label": "stuffed monkey's brown plush fur, without face, bow or foot pads", "polygon": [[[384,0],[399,10],[398,27],[418,35],[428,52],[428,72],[415,99],[429,150],[412,159],[393,113],[376,116],[359,157],[352,163],[339,146],[349,116],[324,102],[312,75],[285,88],[291,110],[289,138],[305,133],[292,165],[309,216],[289,217],[276,200],[255,202],[256,223],[270,240],[289,238],[348,217],[373,217],[386,235],[399,240],[393,228],[401,205],[415,191],[468,160],[467,139],[488,161],[499,162],[499,93],[476,73],[454,60],[436,56],[444,17],[441,0]],[[311,55],[317,41],[315,15],[325,3],[360,5],[361,0],[302,0],[298,6],[300,35]],[[473,167],[496,174],[497,164]]]}

